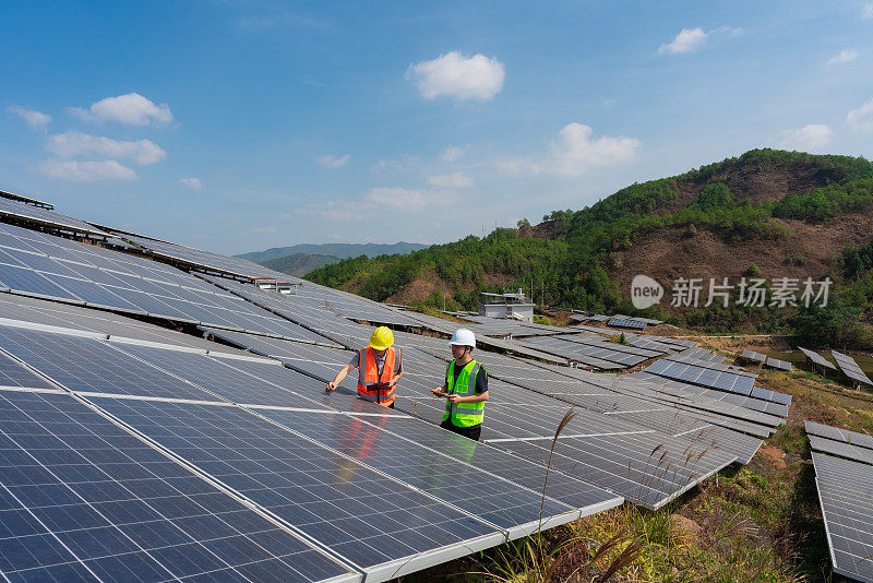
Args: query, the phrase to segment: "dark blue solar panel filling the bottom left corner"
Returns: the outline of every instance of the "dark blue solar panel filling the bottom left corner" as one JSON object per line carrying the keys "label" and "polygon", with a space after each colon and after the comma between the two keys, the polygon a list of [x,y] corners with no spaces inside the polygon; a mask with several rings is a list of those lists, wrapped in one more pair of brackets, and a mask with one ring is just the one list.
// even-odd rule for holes
{"label": "dark blue solar panel filling the bottom left corner", "polygon": [[0,391],[10,581],[359,580],[68,394]]}

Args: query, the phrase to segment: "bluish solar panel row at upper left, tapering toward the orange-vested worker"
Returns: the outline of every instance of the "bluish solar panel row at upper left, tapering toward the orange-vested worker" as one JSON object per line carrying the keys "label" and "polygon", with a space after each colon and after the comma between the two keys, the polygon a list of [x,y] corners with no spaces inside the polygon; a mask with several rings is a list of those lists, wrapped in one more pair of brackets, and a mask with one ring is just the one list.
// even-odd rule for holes
{"label": "bluish solar panel row at upper left, tapering toward the orange-vested worker", "polygon": [[299,326],[169,265],[0,224],[0,285],[15,294],[298,337]]}

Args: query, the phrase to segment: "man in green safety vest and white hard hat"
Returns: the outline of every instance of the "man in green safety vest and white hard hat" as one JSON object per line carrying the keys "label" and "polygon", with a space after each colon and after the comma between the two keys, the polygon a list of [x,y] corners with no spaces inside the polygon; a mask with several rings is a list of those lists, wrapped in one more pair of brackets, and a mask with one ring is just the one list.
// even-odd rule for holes
{"label": "man in green safety vest and white hard hat", "polygon": [[445,397],[443,429],[479,441],[485,418],[485,402],[488,401],[488,374],[473,359],[476,336],[467,329],[459,329],[449,341],[453,360],[445,371],[445,384],[431,391]]}

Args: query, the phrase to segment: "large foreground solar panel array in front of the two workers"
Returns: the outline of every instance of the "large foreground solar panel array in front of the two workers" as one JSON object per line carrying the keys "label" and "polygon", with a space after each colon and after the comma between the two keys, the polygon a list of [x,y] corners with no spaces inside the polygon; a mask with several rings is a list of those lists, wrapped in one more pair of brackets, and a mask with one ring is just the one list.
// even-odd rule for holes
{"label": "large foreground solar panel array in front of the two workers", "polygon": [[320,396],[276,360],[24,322],[0,337],[17,388],[0,504],[47,531],[4,521],[0,546],[29,551],[3,554],[13,579],[379,581],[621,502],[557,476],[542,508],[540,466]]}

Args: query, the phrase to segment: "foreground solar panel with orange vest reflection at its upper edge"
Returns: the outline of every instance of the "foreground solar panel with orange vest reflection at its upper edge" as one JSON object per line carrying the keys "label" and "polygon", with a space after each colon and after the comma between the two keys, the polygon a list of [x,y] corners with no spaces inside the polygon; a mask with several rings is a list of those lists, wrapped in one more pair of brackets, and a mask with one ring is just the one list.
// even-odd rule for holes
{"label": "foreground solar panel with orange vest reflection at its upper edge", "polygon": [[[345,557],[368,579],[397,576],[505,539],[461,510],[240,408],[95,401]],[[366,447],[360,437],[349,439]]]}

